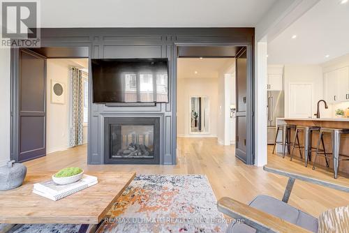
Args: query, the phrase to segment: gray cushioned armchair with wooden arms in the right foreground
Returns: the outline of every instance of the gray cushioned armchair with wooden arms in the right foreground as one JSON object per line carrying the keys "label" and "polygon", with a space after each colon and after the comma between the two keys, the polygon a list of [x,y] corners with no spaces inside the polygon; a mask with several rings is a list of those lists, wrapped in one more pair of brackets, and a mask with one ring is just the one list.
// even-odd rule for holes
{"label": "gray cushioned armchair with wooden arms in the right foreground", "polygon": [[[301,174],[278,167],[265,166],[264,170],[288,176],[288,184],[283,200],[277,200],[267,195],[258,195],[248,205],[223,197],[218,200],[218,209],[226,215],[239,219],[228,226],[227,233],[254,232],[345,232],[343,226],[349,227],[349,206],[333,209],[322,213],[320,218],[314,218],[308,213],[288,204],[295,179],[315,183],[327,188],[334,188],[349,193],[349,181],[335,179],[318,179],[309,174]],[[344,208],[344,210],[343,210]],[[336,216],[336,217],[333,217]],[[338,220],[340,219],[340,220]],[[343,231],[341,231],[343,230]]]}

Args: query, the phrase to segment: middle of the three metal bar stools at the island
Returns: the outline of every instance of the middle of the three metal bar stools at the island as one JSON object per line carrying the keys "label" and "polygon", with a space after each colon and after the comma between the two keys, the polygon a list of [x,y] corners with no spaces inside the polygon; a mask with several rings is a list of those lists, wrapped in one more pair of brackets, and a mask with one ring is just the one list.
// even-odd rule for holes
{"label": "middle of the three metal bar stools at the island", "polygon": [[[299,144],[298,133],[300,131],[302,131],[304,133],[302,146],[301,146],[301,144]],[[295,140],[293,140],[293,148],[292,148],[292,153],[290,156],[291,161],[292,161],[292,157],[293,157],[293,153],[295,152],[295,149],[299,150],[299,155],[301,156],[301,158],[303,158],[302,150],[304,150],[304,165],[306,167],[308,167],[308,161],[311,160],[311,153],[313,151],[315,152],[316,151],[315,149],[317,149],[317,148],[312,146],[313,131],[318,131],[320,133],[320,127],[315,127],[315,126],[297,126],[296,127]],[[322,141],[322,144],[323,144],[323,141]]]}

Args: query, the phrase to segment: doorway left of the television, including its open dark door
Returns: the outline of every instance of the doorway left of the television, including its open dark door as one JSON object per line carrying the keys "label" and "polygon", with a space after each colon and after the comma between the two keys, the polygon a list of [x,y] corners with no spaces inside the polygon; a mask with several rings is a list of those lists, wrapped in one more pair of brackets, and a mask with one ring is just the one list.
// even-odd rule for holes
{"label": "doorway left of the television, including its open dark door", "polygon": [[[73,146],[73,131],[87,143],[88,47],[41,47],[14,50],[11,159],[24,162]],[[81,80],[79,108],[74,108],[72,70]],[[80,98],[81,96],[81,98]],[[86,100],[85,100],[86,99]],[[81,106],[81,107],[80,107]],[[81,118],[81,128],[73,125]],[[79,120],[80,121],[80,120]],[[84,139],[83,139],[84,138]]]}

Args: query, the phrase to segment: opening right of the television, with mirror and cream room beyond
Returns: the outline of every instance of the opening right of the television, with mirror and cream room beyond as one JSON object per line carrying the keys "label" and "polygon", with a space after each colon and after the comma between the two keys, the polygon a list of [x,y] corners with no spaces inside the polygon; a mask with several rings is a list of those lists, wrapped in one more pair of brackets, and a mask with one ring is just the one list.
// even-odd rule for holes
{"label": "opening right of the television, with mirror and cream room beyond", "polygon": [[218,144],[229,145],[230,126],[226,117],[230,111],[230,91],[235,87],[225,87],[225,82],[228,82],[227,70],[235,68],[235,59],[179,58],[177,61],[177,136],[214,137]]}

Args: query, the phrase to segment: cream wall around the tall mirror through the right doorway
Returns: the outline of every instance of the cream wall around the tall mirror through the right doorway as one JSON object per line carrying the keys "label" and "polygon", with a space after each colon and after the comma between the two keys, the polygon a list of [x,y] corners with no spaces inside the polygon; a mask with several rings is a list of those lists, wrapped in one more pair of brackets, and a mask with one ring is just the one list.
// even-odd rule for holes
{"label": "cream wall around the tall mirror through the right doorway", "polygon": [[[177,135],[179,137],[216,137],[218,79],[215,77],[179,78],[177,85]],[[209,98],[209,134],[189,134],[190,96],[207,96]]]}

